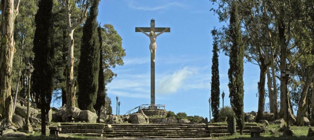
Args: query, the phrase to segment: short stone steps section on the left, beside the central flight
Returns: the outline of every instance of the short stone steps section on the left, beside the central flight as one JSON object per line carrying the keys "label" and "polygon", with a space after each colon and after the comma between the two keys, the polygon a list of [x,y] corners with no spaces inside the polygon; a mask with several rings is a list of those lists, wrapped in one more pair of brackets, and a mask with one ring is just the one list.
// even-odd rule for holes
{"label": "short stone steps section on the left, beside the central flight", "polygon": [[61,134],[102,137],[105,125],[62,123],[61,126],[58,127],[62,128]]}

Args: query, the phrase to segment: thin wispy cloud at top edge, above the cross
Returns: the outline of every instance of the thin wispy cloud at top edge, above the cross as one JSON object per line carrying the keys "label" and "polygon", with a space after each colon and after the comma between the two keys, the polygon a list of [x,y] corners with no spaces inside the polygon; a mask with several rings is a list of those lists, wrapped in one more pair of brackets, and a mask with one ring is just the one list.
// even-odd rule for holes
{"label": "thin wispy cloud at top edge, above the cross", "polygon": [[173,7],[184,7],[182,3],[172,2],[172,3],[164,3],[163,5],[157,5],[154,7],[149,7],[147,5],[141,5],[140,3],[137,3],[135,1],[129,1],[128,6],[130,8],[136,9],[136,10],[144,10],[144,11],[155,11],[155,10],[162,10],[162,9],[168,9]]}

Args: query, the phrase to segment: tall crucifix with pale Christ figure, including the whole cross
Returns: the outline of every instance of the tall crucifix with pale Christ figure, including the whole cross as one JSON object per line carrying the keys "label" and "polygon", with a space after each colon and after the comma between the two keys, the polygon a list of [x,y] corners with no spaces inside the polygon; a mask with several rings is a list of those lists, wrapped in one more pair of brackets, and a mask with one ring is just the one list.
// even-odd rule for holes
{"label": "tall crucifix with pale Christ figure, including the whole cross", "polygon": [[[155,20],[150,20],[150,27],[135,27],[135,32],[142,32],[150,39],[150,109],[157,109],[155,106],[155,55],[156,55],[156,38],[164,32],[170,32],[170,28],[155,28]],[[146,32],[149,32],[146,33]],[[155,32],[159,32],[155,34]]]}

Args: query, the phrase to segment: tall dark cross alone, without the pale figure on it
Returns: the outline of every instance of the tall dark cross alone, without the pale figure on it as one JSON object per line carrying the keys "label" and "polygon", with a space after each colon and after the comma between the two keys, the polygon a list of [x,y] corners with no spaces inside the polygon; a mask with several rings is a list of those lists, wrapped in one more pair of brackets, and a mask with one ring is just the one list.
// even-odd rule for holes
{"label": "tall dark cross alone, without the pale figure on it", "polygon": [[[135,27],[135,32],[170,32],[170,28],[155,28],[155,20],[150,20],[150,27]],[[146,34],[146,33],[145,33]],[[148,34],[146,34],[148,35]],[[156,38],[155,38],[156,39]],[[156,44],[155,44],[156,45]],[[151,55],[152,57],[152,55]],[[156,109],[155,106],[155,61],[151,58],[150,61],[150,109]]]}

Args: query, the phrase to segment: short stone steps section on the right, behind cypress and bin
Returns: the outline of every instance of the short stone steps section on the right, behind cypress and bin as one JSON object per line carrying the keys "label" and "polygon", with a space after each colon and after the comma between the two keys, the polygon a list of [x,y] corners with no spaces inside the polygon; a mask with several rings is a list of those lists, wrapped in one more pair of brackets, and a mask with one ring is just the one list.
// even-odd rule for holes
{"label": "short stone steps section on the right, behind cypress and bin", "polygon": [[[246,123],[243,128],[243,134],[250,135],[250,129],[252,128],[260,128],[257,124]],[[228,133],[227,124],[208,124],[208,130],[210,133],[210,137],[222,137],[231,135]],[[240,133],[239,127],[236,127],[236,132]]]}

